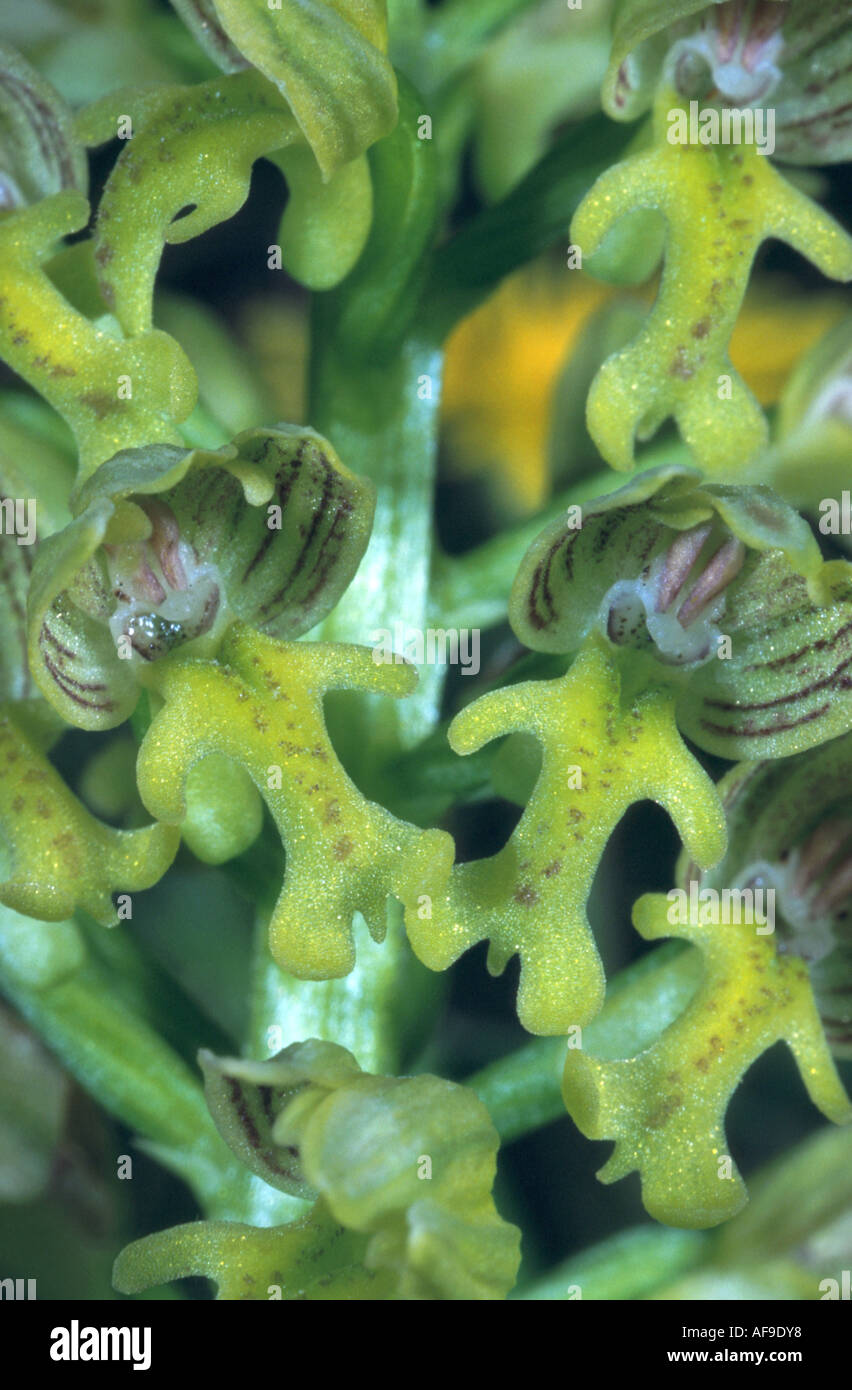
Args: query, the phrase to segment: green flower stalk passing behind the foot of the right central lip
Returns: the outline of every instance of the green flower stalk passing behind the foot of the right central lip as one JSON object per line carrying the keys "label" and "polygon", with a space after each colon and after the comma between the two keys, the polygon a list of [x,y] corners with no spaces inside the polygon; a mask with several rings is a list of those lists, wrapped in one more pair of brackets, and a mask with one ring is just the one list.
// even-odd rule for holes
{"label": "green flower stalk passing behind the foot of the right central lip", "polygon": [[[595,1056],[632,1056],[666,1029],[691,999],[701,955],[671,942],[621,970],[603,1009],[582,1030],[582,1047]],[[564,1038],[535,1038],[468,1077],[506,1143],[564,1115],[562,1070]]]}

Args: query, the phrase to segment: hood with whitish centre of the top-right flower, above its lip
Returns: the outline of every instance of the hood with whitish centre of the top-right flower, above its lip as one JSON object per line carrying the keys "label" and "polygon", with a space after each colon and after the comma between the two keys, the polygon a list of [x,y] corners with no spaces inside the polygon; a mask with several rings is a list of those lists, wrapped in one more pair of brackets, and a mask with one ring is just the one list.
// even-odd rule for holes
{"label": "hood with whitish centre of the top-right flower, above its lip", "polygon": [[771,101],[776,156],[834,164],[852,153],[852,15],[810,0],[627,0],[614,25],[603,107],[632,121],[659,81],[685,100]]}

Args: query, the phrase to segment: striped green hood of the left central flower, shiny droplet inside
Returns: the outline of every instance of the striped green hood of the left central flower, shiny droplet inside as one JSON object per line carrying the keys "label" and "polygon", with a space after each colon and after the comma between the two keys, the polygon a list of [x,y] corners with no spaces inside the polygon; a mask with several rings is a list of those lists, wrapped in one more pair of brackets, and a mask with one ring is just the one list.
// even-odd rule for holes
{"label": "striped green hood of the left central flower, shiny droplet inside", "polygon": [[71,723],[110,728],[157,663],[178,649],[213,655],[234,620],[299,637],[354,575],[372,509],[372,485],[307,427],[246,430],[215,450],[122,450],[39,548],[36,684]]}

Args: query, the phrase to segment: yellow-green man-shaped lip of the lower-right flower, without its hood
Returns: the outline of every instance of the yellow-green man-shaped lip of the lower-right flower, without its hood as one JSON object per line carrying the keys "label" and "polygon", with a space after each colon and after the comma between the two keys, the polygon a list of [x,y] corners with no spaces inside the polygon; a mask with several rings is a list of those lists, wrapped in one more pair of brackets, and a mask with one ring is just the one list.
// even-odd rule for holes
{"label": "yellow-green man-shaped lip of the lower-right flower, without its hood", "polygon": [[813,1002],[808,967],[783,956],[753,924],[678,924],[664,894],[639,898],[637,930],[648,941],[677,935],[696,945],[705,973],[685,1012],[638,1056],[599,1061],[571,1049],[563,1094],[588,1138],[614,1138],[598,1175],[612,1183],[638,1169],[649,1213],[670,1226],[714,1226],[735,1215],[745,1184],[724,1137],[724,1112],[739,1080],[767,1048],[785,1041],[814,1105],[838,1125],[852,1102],[837,1074]]}

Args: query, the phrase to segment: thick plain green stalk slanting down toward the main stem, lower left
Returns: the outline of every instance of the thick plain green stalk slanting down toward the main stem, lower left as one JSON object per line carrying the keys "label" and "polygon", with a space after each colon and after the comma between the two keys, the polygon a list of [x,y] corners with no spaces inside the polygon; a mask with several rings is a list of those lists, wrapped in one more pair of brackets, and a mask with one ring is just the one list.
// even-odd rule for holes
{"label": "thick plain green stalk slanting down toward the main stem, lower left", "polygon": [[0,965],[7,998],[81,1086],[192,1188],[210,1216],[231,1215],[242,1170],[220,1138],[189,1066],[111,988],[95,962],[44,988]]}

